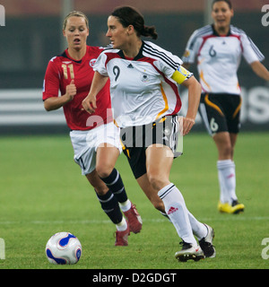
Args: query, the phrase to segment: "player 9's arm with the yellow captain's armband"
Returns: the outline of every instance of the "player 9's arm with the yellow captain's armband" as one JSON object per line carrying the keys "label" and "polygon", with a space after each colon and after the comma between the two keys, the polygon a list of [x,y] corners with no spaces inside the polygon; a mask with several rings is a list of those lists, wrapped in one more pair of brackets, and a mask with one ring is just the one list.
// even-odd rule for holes
{"label": "player 9's arm with the yellow captain's armband", "polygon": [[200,103],[201,85],[195,79],[195,76],[188,72],[182,66],[172,75],[172,79],[182,84],[188,91],[188,108],[187,115],[183,117],[183,135],[187,135],[191,128],[195,125],[195,117]]}

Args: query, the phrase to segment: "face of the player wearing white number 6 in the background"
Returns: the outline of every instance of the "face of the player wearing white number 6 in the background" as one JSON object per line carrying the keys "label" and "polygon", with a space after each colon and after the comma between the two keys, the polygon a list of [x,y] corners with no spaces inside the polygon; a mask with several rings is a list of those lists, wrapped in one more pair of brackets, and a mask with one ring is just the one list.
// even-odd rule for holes
{"label": "face of the player wearing white number 6 in the background", "polygon": [[212,17],[216,30],[227,30],[230,27],[230,19],[233,16],[233,10],[229,4],[224,1],[213,4]]}

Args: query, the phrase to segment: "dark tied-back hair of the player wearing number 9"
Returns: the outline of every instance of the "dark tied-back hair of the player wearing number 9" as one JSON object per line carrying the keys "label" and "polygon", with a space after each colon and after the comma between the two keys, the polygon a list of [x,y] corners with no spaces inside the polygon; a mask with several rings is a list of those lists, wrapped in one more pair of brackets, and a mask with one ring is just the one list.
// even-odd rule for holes
{"label": "dark tied-back hair of the player wearing number 9", "polygon": [[143,15],[136,11],[133,7],[122,6],[117,7],[112,13],[112,16],[117,17],[118,21],[123,25],[123,27],[128,27],[129,25],[134,26],[137,36],[151,37],[152,39],[157,39],[158,34],[154,26],[145,26]]}

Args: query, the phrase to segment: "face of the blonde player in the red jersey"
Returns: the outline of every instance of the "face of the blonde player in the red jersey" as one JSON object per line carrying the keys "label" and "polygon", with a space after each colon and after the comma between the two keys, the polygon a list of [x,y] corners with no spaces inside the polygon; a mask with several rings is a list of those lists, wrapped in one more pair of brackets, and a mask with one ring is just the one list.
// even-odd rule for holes
{"label": "face of the blonde player in the red jersey", "polygon": [[83,17],[73,16],[68,18],[63,32],[68,43],[68,48],[79,50],[86,46],[89,29]]}

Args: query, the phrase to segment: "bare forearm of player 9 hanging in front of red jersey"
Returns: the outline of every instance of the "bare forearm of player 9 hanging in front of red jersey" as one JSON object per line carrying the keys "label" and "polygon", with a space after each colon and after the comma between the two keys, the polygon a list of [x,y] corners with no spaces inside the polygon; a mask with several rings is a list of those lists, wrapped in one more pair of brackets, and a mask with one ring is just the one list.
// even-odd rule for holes
{"label": "bare forearm of player 9 hanging in front of red jersey", "polygon": [[96,96],[101,91],[101,89],[105,86],[108,81],[107,76],[103,76],[99,72],[95,72],[92,83],[91,83],[91,90],[89,91],[88,96],[82,100],[82,107],[85,109],[89,114],[94,113],[96,106]]}

